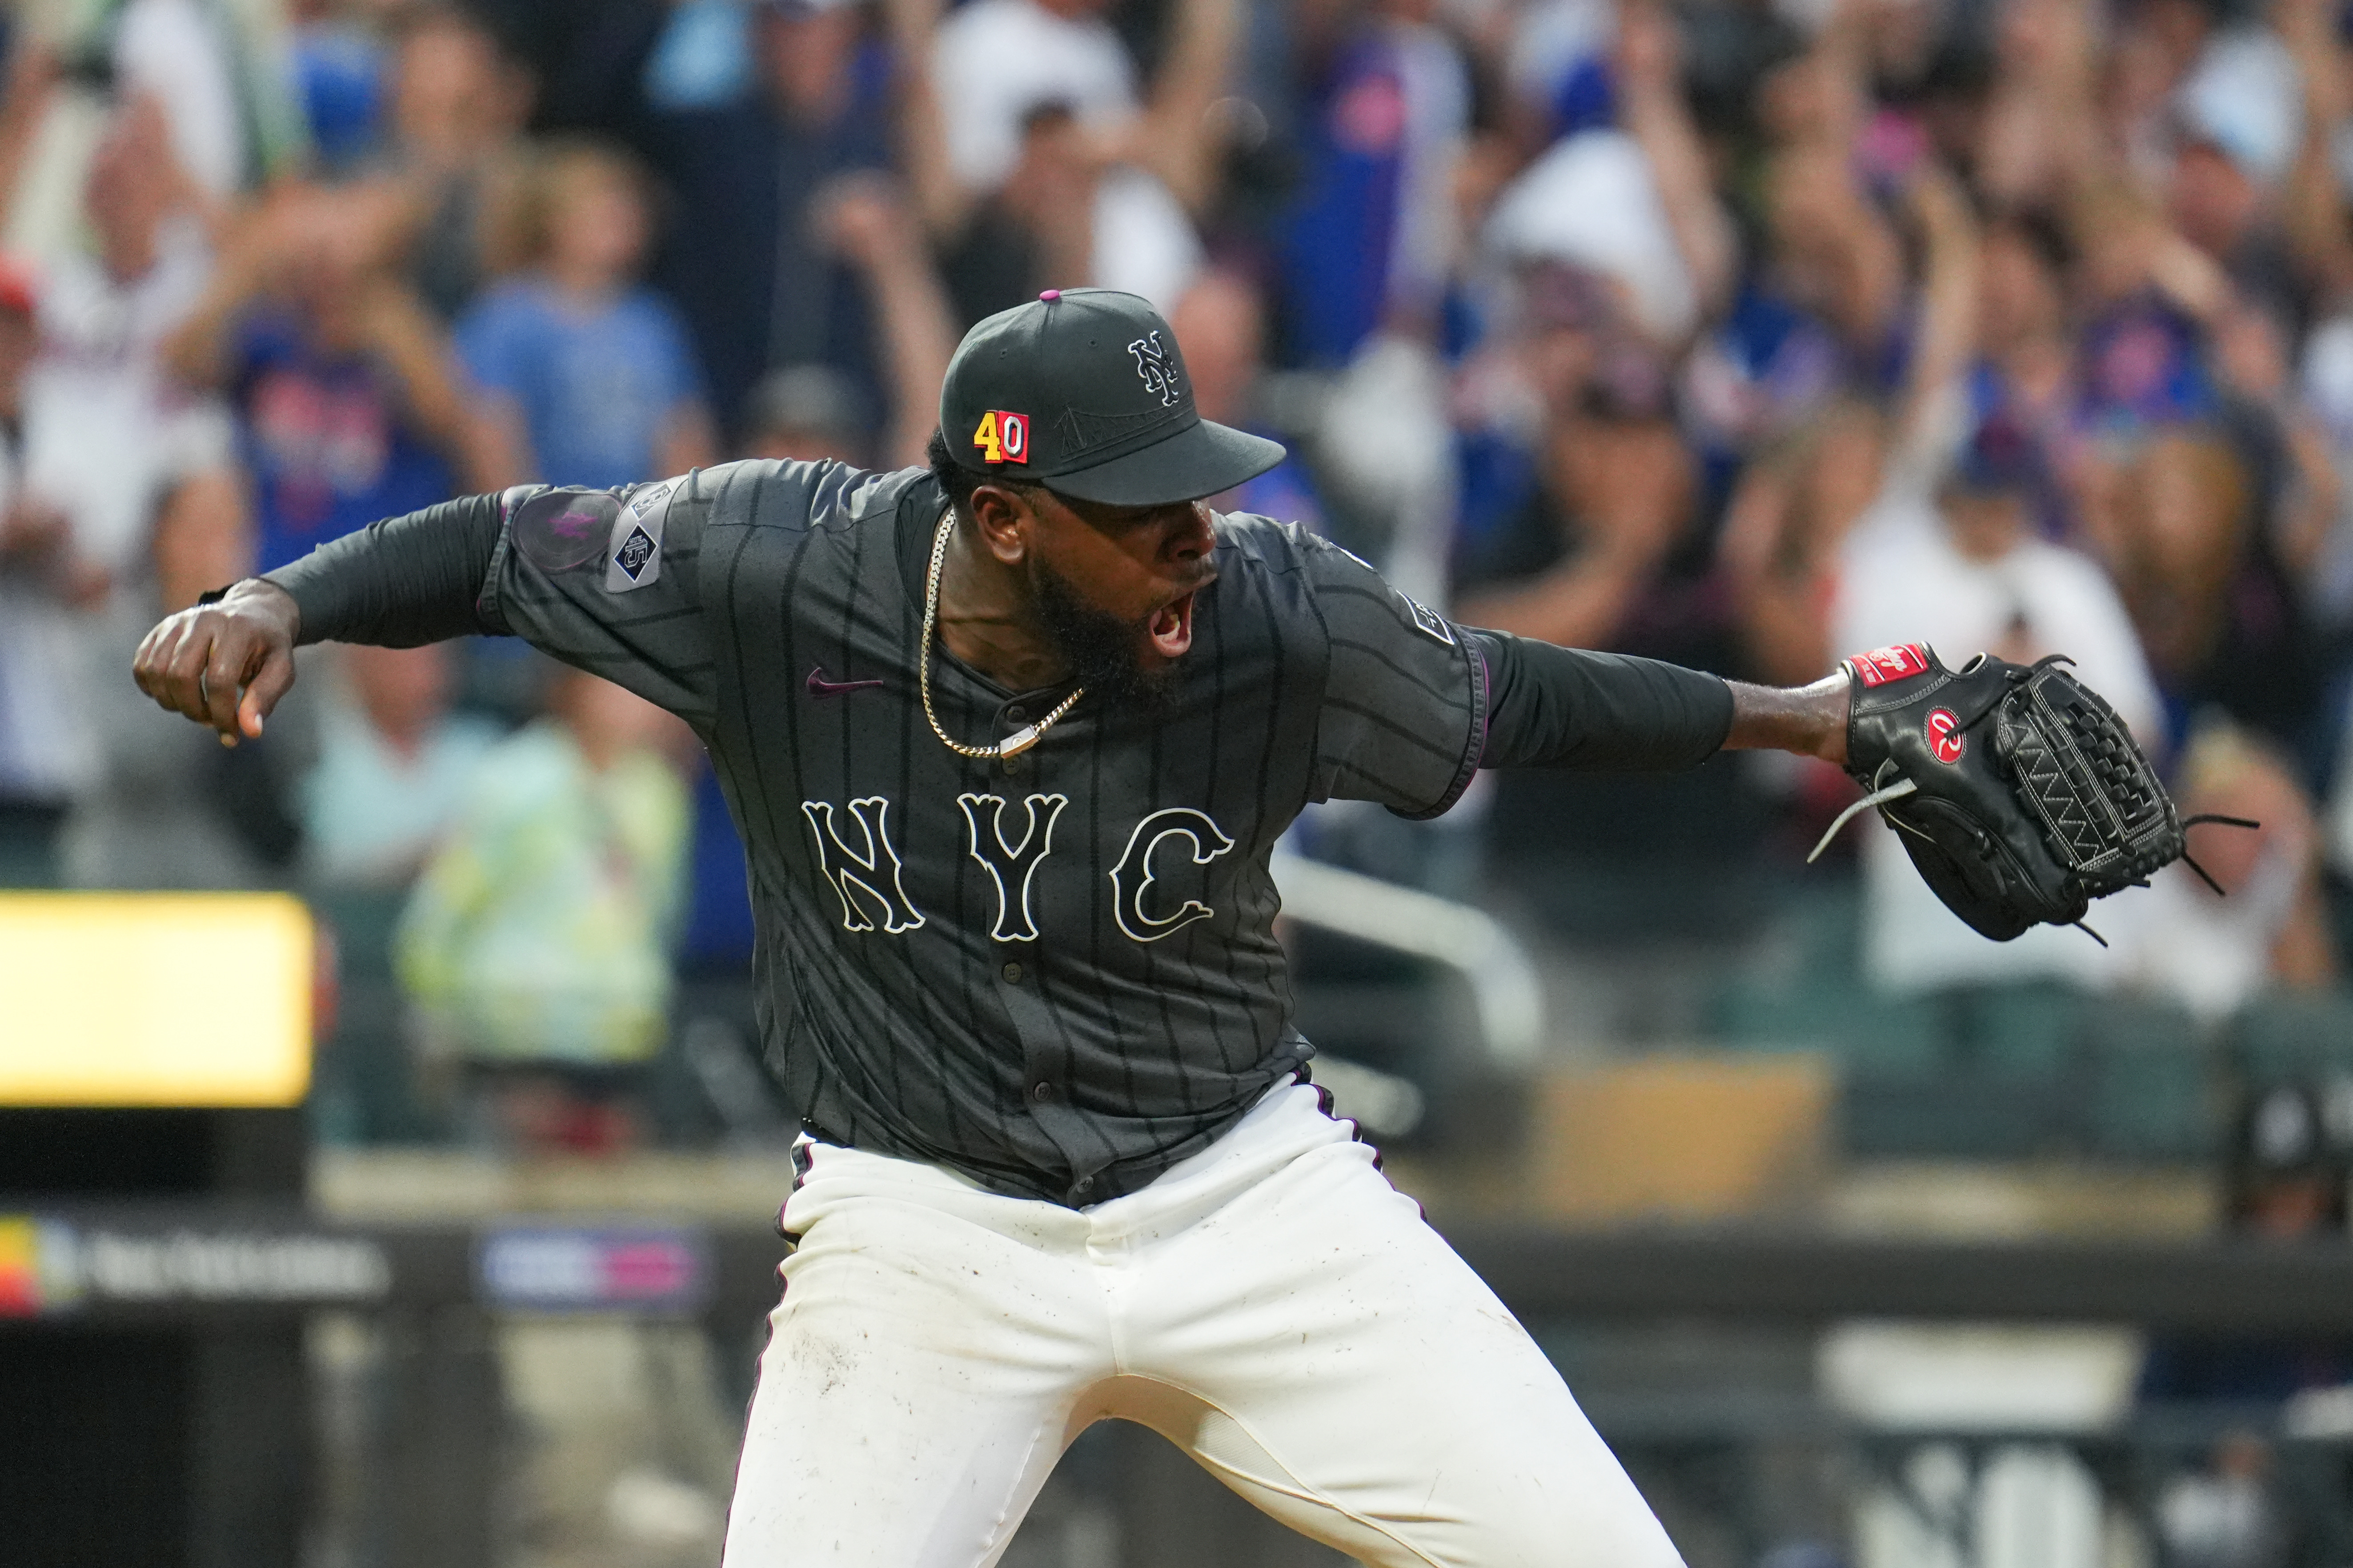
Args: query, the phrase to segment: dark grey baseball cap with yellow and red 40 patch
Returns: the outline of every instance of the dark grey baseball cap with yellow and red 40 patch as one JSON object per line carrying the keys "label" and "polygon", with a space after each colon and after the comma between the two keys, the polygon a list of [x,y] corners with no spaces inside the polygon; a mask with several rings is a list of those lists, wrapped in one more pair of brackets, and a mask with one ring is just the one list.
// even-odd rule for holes
{"label": "dark grey baseball cap with yellow and red 40 patch", "polygon": [[1047,289],[967,331],[939,428],[974,473],[1106,505],[1214,496],[1282,461],[1280,442],[1200,416],[1176,334],[1118,289]]}

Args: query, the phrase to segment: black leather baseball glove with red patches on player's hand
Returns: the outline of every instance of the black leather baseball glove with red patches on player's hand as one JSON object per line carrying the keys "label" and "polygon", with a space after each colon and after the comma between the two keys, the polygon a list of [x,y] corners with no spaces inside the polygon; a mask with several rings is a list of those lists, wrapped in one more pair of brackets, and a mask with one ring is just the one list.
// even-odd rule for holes
{"label": "black leather baseball glove with red patches on player's hand", "polygon": [[2254,827],[2181,820],[2132,731],[2057,654],[2031,668],[1979,654],[1946,670],[1904,642],[1842,668],[1854,682],[1847,773],[1866,795],[1814,856],[1878,806],[1937,898],[1998,943],[2040,924],[2099,940],[2082,924],[2092,900],[2188,860],[2184,827]]}

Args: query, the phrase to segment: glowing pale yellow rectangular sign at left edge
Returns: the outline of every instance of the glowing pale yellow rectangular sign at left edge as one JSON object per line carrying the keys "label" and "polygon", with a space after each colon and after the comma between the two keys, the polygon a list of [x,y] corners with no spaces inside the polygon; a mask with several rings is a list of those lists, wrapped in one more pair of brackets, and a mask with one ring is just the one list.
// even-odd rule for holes
{"label": "glowing pale yellow rectangular sign at left edge", "polygon": [[299,1105],[311,980],[282,893],[0,893],[0,1105]]}

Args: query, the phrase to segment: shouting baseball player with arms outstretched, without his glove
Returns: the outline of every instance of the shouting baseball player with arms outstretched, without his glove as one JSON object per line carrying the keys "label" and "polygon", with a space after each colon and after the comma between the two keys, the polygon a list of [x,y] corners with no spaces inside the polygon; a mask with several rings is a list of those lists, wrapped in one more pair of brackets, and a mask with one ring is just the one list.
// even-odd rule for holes
{"label": "shouting baseball player with arms outstretched, without his glove", "polygon": [[732,1568],[993,1563],[1118,1415],[1367,1563],[1668,1568],[1569,1389],[1308,1081],[1275,839],[1480,766],[1845,759],[1772,691],[1454,625],[1297,527],[1129,294],[995,315],[929,470],[748,461],[379,522],[158,625],[231,743],[308,642],[529,639],[711,748],[805,1138]]}

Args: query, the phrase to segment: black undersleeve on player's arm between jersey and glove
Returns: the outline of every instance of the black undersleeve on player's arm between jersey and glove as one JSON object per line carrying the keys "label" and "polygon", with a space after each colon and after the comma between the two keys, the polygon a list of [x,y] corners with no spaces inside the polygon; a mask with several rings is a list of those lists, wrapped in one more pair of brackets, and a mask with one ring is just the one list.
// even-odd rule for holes
{"label": "black undersleeve on player's arm between jersey and glove", "polygon": [[1487,665],[1480,766],[1673,773],[1727,741],[1727,682],[1657,658],[1591,654],[1466,628]]}

